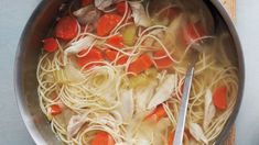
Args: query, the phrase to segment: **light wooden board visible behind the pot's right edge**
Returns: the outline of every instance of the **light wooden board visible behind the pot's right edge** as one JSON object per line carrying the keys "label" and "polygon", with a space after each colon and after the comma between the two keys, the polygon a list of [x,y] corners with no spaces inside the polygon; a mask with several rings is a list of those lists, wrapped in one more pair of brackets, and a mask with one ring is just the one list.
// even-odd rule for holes
{"label": "light wooden board visible behind the pot's right edge", "polygon": [[[236,22],[236,0],[220,0],[223,5],[226,8],[227,12],[231,16],[233,21]],[[235,145],[236,141],[236,129],[233,126],[229,132],[228,138],[225,142],[225,145]]]}

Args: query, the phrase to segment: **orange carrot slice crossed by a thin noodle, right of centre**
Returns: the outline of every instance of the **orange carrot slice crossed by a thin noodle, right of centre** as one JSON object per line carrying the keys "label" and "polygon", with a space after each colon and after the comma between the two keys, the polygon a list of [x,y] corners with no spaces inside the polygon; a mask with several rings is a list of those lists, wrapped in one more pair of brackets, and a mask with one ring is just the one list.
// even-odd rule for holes
{"label": "orange carrot slice crossed by a thin noodle, right of centre", "polygon": [[[168,54],[163,49],[160,49],[160,51],[153,53],[154,57],[163,57],[163,56],[166,56],[166,55]],[[158,66],[159,69],[169,68],[173,64],[173,62],[170,59],[169,56],[163,57],[163,58],[159,58],[159,59],[154,58],[154,63],[155,63],[155,65]]]}

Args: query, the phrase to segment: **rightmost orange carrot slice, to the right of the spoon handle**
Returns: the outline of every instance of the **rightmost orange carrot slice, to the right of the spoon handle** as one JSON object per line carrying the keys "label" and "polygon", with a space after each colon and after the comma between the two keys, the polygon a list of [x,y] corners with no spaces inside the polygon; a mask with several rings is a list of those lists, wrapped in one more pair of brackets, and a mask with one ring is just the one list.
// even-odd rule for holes
{"label": "rightmost orange carrot slice, to the right of the spoon handle", "polygon": [[213,102],[214,102],[214,105],[218,110],[227,109],[227,87],[226,86],[216,88],[214,90]]}

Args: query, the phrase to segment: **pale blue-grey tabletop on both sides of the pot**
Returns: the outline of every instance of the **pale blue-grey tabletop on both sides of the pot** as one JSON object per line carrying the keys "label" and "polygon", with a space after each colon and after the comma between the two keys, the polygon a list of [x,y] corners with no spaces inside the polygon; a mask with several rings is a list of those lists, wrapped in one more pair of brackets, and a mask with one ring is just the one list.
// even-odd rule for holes
{"label": "pale blue-grey tabletop on both sides of the pot", "polygon": [[[0,144],[31,145],[13,92],[19,37],[40,0],[0,0]],[[237,0],[237,30],[244,46],[246,87],[237,119],[237,145],[259,145],[259,1]]]}

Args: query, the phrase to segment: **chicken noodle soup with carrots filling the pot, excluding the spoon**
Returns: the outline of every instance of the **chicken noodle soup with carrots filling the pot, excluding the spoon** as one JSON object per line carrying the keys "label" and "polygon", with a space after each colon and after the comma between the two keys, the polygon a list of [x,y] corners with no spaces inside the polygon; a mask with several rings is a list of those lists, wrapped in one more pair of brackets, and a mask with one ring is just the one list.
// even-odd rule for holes
{"label": "chicken noodle soup with carrots filling the pot, excluding the spoon", "polygon": [[[158,2],[155,2],[158,3]],[[40,105],[64,144],[171,145],[193,45],[184,144],[213,144],[234,109],[228,33],[179,1],[73,1],[37,65]]]}

